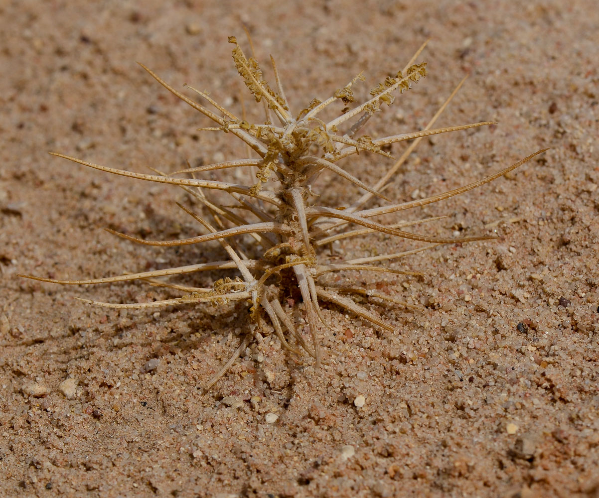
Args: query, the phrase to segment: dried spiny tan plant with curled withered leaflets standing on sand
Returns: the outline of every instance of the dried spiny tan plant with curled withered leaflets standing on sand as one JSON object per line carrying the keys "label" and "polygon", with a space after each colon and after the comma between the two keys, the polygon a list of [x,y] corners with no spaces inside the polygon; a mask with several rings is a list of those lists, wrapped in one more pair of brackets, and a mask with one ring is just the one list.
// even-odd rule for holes
{"label": "dried spiny tan plant with curled withered leaflets standing on sand", "polygon": [[[398,71],[394,77],[388,77],[374,87],[370,91],[370,98],[362,104],[351,108],[347,107],[355,102],[353,86],[359,80],[365,79],[362,74],[359,74],[346,86],[336,90],[330,98],[323,102],[314,99],[307,108],[301,110],[298,114],[293,114],[283,92],[277,67],[272,57],[271,63],[276,81],[275,89],[265,81],[262,70],[255,58],[247,58],[234,37],[230,37],[229,42],[234,44],[232,54],[237,71],[256,102],[264,104],[266,119],[262,124],[252,124],[240,119],[214,101],[208,93],[189,87],[213,108],[213,110],[210,110],[210,108],[198,104],[173,89],[153,71],[144,65],[142,66],[167,90],[216,123],[216,126],[203,128],[202,130],[222,130],[225,133],[237,136],[253,150],[255,157],[229,160],[199,168],[189,168],[170,175],[154,170],[156,174],[150,175],[107,168],[59,153],[51,154],[116,175],[180,186],[204,205],[211,215],[211,220],[207,220],[190,208],[179,204],[183,211],[204,227],[207,232],[204,235],[173,241],[148,241],[124,233],[117,233],[113,230],[108,231],[139,244],[162,247],[200,244],[201,242],[217,240],[228,253],[230,260],[93,280],[55,280],[21,275],[43,282],[77,285],[143,280],[153,285],[170,287],[186,293],[181,297],[149,303],[117,304],[82,299],[84,302],[107,308],[139,309],[195,303],[247,302],[250,306],[251,317],[249,332],[241,339],[237,351],[235,351],[229,362],[211,379],[207,387],[213,385],[227,371],[235,359],[246,349],[252,337],[262,341],[262,334],[268,332],[268,326],[264,318],[270,321],[274,333],[276,333],[283,347],[297,354],[301,354],[301,350],[305,351],[313,357],[316,367],[320,366],[322,362],[322,353],[317,341],[317,330],[321,326],[326,326],[320,310],[321,302],[334,303],[334,305],[351,312],[353,315],[364,318],[377,327],[393,332],[394,327],[391,324],[379,318],[371,309],[367,309],[350,299],[346,294],[373,297],[408,308],[422,308],[369,289],[354,288],[350,285],[326,287],[322,284],[322,276],[340,271],[372,271],[413,275],[412,272],[386,268],[380,266],[379,263],[397,260],[409,254],[435,247],[438,244],[455,244],[456,242],[494,238],[494,236],[488,235],[439,238],[406,231],[409,226],[438,220],[441,217],[429,217],[419,221],[400,221],[394,224],[383,224],[376,221],[376,218],[384,214],[422,207],[476,189],[506,175],[543,152],[541,150],[531,154],[509,166],[509,168],[459,189],[449,190],[426,199],[395,204],[385,196],[385,189],[389,185],[389,180],[400,169],[420,139],[438,133],[493,124],[491,122],[482,122],[442,128],[432,127],[458,91],[463,80],[441,105],[424,129],[383,138],[371,138],[368,135],[358,136],[359,130],[364,127],[371,116],[380,110],[381,105],[392,105],[395,94],[398,92],[403,93],[405,90],[410,89],[412,84],[418,83],[420,78],[425,77],[426,63],[414,63],[425,44],[419,48],[402,71]],[[322,116],[321,113],[325,108],[338,101],[344,105],[340,115],[328,122],[319,117]],[[273,116],[276,117],[279,125],[273,124]],[[374,185],[364,183],[364,181],[352,175],[346,167],[338,165],[346,157],[355,156],[362,152],[391,157],[386,151],[389,150],[388,146],[404,141],[412,142],[401,154],[401,157],[392,164],[391,168]],[[194,176],[207,171],[247,167],[257,168],[256,178],[258,181],[253,185],[201,180]],[[319,205],[314,201],[318,196],[314,193],[313,188],[320,173],[325,170],[337,174],[343,180],[360,187],[365,191],[364,194],[350,205],[341,207]],[[190,178],[176,177],[180,174],[188,174]],[[267,187],[267,182],[271,179],[277,183],[276,188]],[[232,207],[225,206],[215,199],[210,199],[207,196],[207,191],[210,190],[221,190],[228,193],[234,200],[235,205]],[[388,204],[365,208],[374,198],[383,199]],[[350,225],[357,226],[357,228],[349,229]],[[371,233],[385,233],[412,241],[426,242],[427,244],[401,253],[361,257],[343,262],[336,260],[333,262],[332,257],[325,254],[324,249],[334,241],[362,237]],[[242,244],[237,244],[234,241],[237,236],[244,234],[252,236],[255,247],[243,247]],[[256,254],[257,256],[250,257],[246,253]],[[237,269],[239,276],[234,279],[223,278],[218,280],[210,289],[186,287],[170,281],[159,280],[161,277],[171,275],[231,269]],[[290,312],[286,311],[283,306],[286,298],[294,295],[298,296],[297,301],[301,302],[311,341],[304,339],[302,325],[294,321]]]}

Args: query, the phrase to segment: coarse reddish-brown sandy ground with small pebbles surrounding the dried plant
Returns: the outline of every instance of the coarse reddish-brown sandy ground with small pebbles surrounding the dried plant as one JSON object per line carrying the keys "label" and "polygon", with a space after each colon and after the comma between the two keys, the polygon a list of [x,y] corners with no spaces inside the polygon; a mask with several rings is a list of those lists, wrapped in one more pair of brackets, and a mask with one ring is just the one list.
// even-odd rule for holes
{"label": "coarse reddish-brown sandy ground with small pebbles surrounding the dried plant", "polygon": [[[599,496],[595,2],[168,3],[0,6],[0,495]],[[438,124],[499,124],[422,141],[393,198],[442,192],[551,149],[412,214],[449,214],[422,228],[433,235],[497,230],[500,239],[395,266],[422,278],[358,275],[358,285],[427,306],[373,304],[395,333],[328,306],[328,365],[316,371],[267,338],[204,393],[239,344],[243,306],[119,312],[74,297],[173,294],[16,274],[102,277],[222,258],[217,244],[138,247],[104,232],[199,229],[174,204],[188,202],[176,187],[47,152],[141,172],[245,154],[230,135],[196,132],[207,120],[135,64],[260,119],[226,42],[237,35],[247,48],[243,25],[259,59],[276,57],[297,109],[360,70],[364,97],[431,38],[420,57],[428,77],[371,120],[374,136],[420,129],[470,74]],[[368,180],[377,166],[362,154],[348,167]],[[338,181],[322,191],[332,205],[358,193]],[[338,250],[407,247],[371,236]]]}

